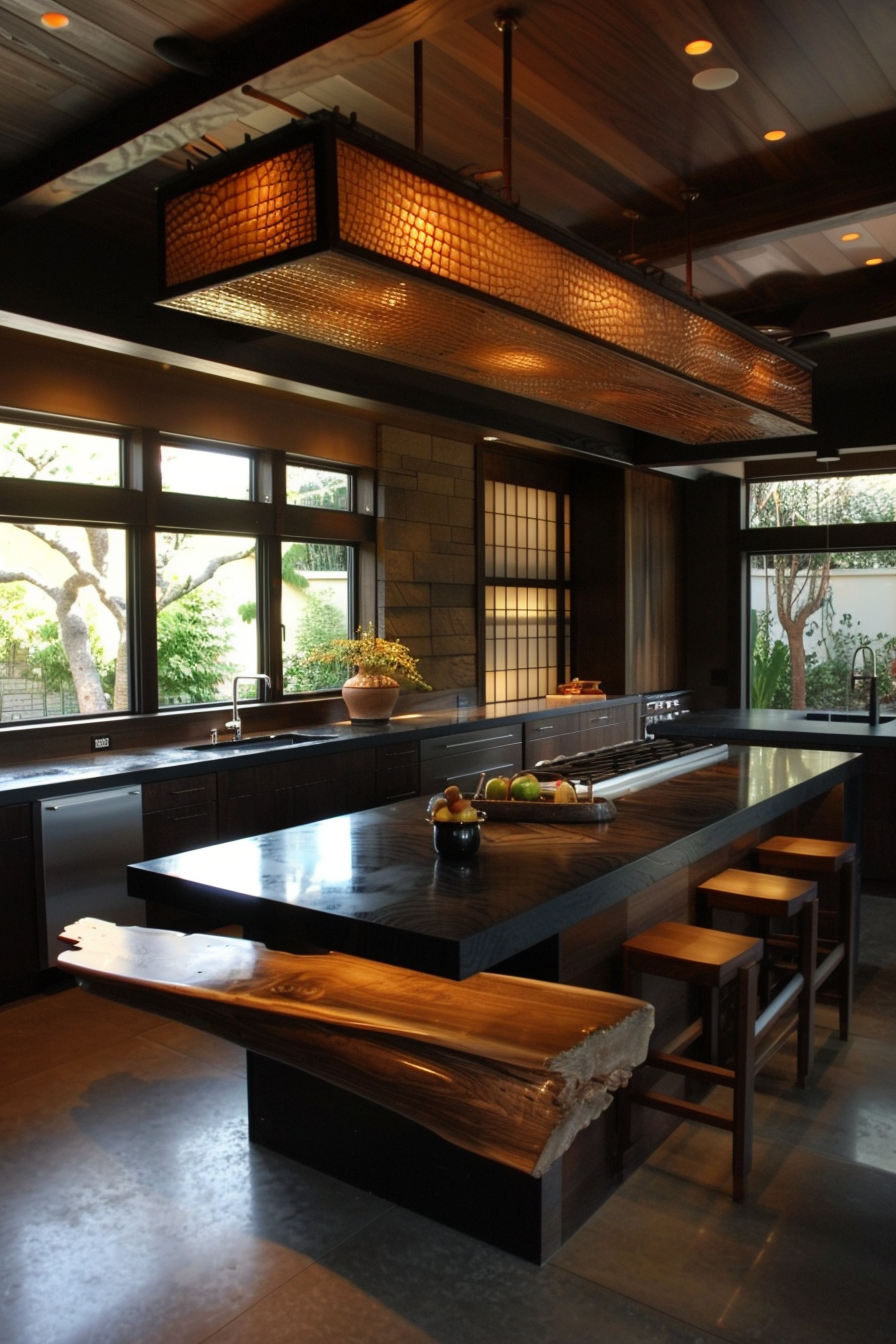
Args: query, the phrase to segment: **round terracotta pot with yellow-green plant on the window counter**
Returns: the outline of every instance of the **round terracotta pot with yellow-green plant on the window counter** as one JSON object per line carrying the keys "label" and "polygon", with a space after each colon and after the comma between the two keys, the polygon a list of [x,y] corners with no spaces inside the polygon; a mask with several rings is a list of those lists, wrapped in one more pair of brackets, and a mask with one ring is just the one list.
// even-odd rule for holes
{"label": "round terracotta pot with yellow-green plant on the window counter", "polygon": [[382,638],[372,621],[365,630],[359,625],[353,640],[330,640],[305,657],[322,667],[357,668],[343,685],[345,708],[355,723],[387,723],[402,681],[419,691],[433,689],[420,676],[407,645]]}

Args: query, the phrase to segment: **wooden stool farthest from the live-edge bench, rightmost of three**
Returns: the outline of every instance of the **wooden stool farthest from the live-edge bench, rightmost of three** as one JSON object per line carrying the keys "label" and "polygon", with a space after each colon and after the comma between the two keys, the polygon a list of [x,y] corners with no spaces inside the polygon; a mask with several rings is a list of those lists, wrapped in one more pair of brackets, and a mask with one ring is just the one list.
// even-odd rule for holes
{"label": "wooden stool farthest from the live-edge bench, rightmost of three", "polygon": [[[803,836],[774,836],[756,845],[763,868],[776,868],[799,876],[837,876],[837,927],[832,938],[818,937],[815,943],[814,993],[840,966],[837,986],[829,992],[840,1009],[840,1039],[849,1040],[853,1012],[853,976],[856,964],[856,845],[846,840],[810,840]],[[819,913],[825,933],[825,911]],[[793,946],[791,939],[775,938],[775,946]]]}

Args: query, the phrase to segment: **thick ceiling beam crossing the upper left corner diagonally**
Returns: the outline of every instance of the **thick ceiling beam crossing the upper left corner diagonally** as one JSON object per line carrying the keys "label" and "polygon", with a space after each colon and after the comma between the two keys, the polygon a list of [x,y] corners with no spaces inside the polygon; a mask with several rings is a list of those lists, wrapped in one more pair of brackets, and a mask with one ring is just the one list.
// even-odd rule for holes
{"label": "thick ceiling beam crossing the upper left corner diagonally", "polygon": [[[404,44],[410,40],[408,32],[416,28],[424,30],[433,23],[447,22],[457,17],[458,11],[463,13],[470,8],[469,0],[418,0],[412,5],[408,5],[407,0],[328,0],[326,4],[301,0],[283,5],[240,28],[231,38],[210,44],[210,75],[172,71],[160,59],[157,83],[9,167],[0,179],[0,208],[23,200],[30,200],[32,208],[52,204],[52,192],[47,192],[46,188],[59,184],[60,179],[87,164],[95,168],[95,180],[89,181],[82,190],[101,185],[129,172],[146,159],[157,159],[193,134],[189,132],[181,137],[165,136],[179,118],[208,109],[211,122],[215,102],[228,95],[232,118],[235,90],[244,83],[259,82],[271,70],[278,70],[321,47],[332,44],[336,71],[347,59],[349,42],[357,59],[357,30],[368,28],[377,20],[395,16],[392,24],[395,32],[380,35],[379,43],[371,40],[371,59],[380,55],[383,44],[387,47]],[[345,50],[340,47],[343,39],[347,43]],[[137,142],[145,141],[146,137],[152,138],[145,144],[141,157]],[[165,142],[167,140],[171,144]],[[38,194],[40,194],[39,200],[35,199]],[[58,203],[62,203],[70,199],[73,191],[58,191],[56,195]]]}

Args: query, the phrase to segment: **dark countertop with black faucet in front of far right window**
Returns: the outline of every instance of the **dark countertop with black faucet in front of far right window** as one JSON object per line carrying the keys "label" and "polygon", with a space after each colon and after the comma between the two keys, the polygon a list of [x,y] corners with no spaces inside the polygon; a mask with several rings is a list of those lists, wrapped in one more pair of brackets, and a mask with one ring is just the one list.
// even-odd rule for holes
{"label": "dark countertop with black faucet in front of far right window", "polygon": [[[817,712],[817,711],[809,711]],[[889,710],[881,711],[884,716]],[[829,747],[836,751],[866,751],[896,746],[896,718],[872,727],[807,719],[806,710],[703,710],[658,723],[658,737],[713,739],[716,742],[770,742]]]}

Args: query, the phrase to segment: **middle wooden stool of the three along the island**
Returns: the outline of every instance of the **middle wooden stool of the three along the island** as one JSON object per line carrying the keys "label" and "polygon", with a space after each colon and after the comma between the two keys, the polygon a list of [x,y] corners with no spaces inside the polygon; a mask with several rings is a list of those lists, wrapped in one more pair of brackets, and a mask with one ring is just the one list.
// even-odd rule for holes
{"label": "middle wooden stool of the three along the island", "polygon": [[[797,1083],[806,1086],[811,1068],[815,1035],[815,995],[813,972],[815,964],[815,943],[818,941],[818,886],[797,878],[780,878],[770,872],[747,872],[743,868],[725,868],[697,887],[697,917],[712,925],[713,910],[733,910],[739,914],[758,915],[764,921],[763,941],[770,942],[771,919],[797,919],[797,933],[789,938],[789,945],[797,949],[797,968],[787,969],[785,984],[772,996],[774,966],[766,960],[760,969],[762,1015],[756,1019],[756,1036],[764,1036],[764,1044],[756,1056],[756,1068],[783,1046],[797,1031]],[[797,1004],[795,1012],[785,1013]],[[775,1024],[775,1034],[770,1027]]]}

